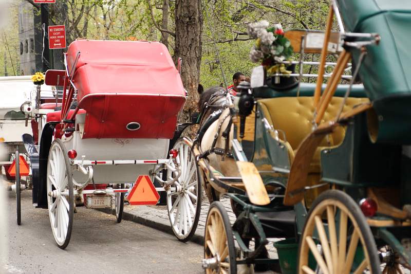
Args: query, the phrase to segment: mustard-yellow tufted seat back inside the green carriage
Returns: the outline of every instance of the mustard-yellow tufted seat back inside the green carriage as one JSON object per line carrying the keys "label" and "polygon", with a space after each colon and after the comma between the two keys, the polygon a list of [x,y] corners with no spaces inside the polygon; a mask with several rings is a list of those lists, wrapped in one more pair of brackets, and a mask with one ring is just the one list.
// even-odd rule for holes
{"label": "mustard-yellow tufted seat back inside the green carriage", "polygon": [[[344,98],[333,97],[324,114],[322,122],[328,122],[337,116]],[[347,98],[343,112],[356,105],[368,102],[368,98]],[[258,100],[261,111],[274,129],[284,131],[287,142],[295,151],[298,145],[312,131],[314,119],[313,97],[277,97]],[[330,147],[340,144],[345,135],[345,130],[338,127],[320,144],[321,147]],[[279,134],[284,139],[283,134]]]}

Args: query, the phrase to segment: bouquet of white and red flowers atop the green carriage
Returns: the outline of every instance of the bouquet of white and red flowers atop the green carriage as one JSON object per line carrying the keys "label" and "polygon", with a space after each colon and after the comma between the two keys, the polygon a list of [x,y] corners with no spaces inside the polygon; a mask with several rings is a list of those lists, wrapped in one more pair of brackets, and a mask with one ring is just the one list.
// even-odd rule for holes
{"label": "bouquet of white and red flowers atop the green carriage", "polygon": [[247,33],[255,38],[255,45],[251,48],[250,59],[255,63],[261,63],[268,76],[274,74],[290,74],[283,61],[290,61],[293,52],[290,41],[284,36],[281,24],[275,24],[269,28],[265,20],[251,23],[247,27]]}

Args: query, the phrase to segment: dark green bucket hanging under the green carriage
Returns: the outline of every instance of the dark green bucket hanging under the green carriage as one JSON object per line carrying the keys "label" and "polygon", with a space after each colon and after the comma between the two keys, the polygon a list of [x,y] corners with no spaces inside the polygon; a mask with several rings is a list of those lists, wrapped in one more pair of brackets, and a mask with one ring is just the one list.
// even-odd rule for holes
{"label": "dark green bucket hanging under the green carriage", "polygon": [[[295,238],[289,238],[274,243],[277,249],[279,266],[283,274],[297,273],[297,259],[298,259],[298,243]],[[311,269],[315,269],[315,259],[310,252],[308,258],[308,265]]]}

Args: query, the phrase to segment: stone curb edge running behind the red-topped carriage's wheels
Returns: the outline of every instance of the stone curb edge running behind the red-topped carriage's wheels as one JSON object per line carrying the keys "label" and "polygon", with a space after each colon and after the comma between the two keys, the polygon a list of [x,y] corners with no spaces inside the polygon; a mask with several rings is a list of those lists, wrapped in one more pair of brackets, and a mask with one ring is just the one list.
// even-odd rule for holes
{"label": "stone curb edge running behind the red-topped carriage's wheels", "polygon": [[[107,213],[107,214],[116,215],[116,210],[114,208],[99,208],[99,209],[96,209],[96,210]],[[148,218],[141,217],[141,216],[138,216],[136,214],[129,213],[129,212],[126,212],[126,211],[123,211],[122,220],[132,221],[134,223],[141,224],[141,225],[151,227],[151,228],[163,231],[165,233],[174,235],[174,232],[173,232],[169,222],[167,222],[167,224],[164,224],[164,222],[161,222],[160,220],[159,221],[150,220]],[[196,243],[196,244],[199,244],[199,245],[203,245],[204,235],[198,233],[198,229],[197,229],[197,231],[194,233],[194,235],[192,236],[192,238],[190,239],[189,242],[193,242],[193,243]]]}

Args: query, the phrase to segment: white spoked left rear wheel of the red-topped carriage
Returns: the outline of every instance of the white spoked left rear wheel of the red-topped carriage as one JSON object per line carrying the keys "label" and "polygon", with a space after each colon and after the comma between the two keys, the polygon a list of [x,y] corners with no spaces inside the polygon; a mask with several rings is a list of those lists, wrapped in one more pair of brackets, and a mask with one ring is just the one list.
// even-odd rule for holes
{"label": "white spoked left rear wheel of the red-topped carriage", "polygon": [[47,165],[47,202],[51,230],[57,245],[64,249],[73,227],[73,181],[66,148],[60,139],[51,144]]}

